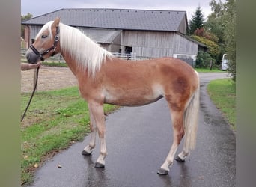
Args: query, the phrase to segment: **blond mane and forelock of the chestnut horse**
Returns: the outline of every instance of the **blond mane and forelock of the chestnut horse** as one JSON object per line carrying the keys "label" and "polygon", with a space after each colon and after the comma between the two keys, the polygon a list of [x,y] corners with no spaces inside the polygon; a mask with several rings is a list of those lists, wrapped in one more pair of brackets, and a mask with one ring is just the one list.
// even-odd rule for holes
{"label": "blond mane and forelock of the chestnut horse", "polygon": [[[51,22],[43,25],[37,37],[43,31],[48,29],[50,37],[52,37]],[[87,37],[77,28],[59,23],[60,28],[60,46],[62,52],[67,52],[71,58],[83,69],[88,70],[92,76],[100,70],[101,65],[105,62],[106,57],[112,57],[112,53],[100,47],[97,43]]]}

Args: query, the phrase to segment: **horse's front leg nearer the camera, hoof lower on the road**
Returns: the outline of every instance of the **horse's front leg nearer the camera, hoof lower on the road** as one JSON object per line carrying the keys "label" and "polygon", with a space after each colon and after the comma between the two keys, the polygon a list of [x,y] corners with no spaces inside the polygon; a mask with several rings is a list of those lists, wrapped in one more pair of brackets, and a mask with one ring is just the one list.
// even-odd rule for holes
{"label": "horse's front leg nearer the camera, hoof lower on the road", "polygon": [[106,126],[105,126],[103,104],[100,104],[98,102],[88,102],[88,106],[92,116],[94,117],[94,121],[95,121],[96,128],[100,138],[100,156],[97,159],[95,167],[104,168],[105,167],[104,159],[107,155],[107,150],[106,150],[106,139],[105,139]]}

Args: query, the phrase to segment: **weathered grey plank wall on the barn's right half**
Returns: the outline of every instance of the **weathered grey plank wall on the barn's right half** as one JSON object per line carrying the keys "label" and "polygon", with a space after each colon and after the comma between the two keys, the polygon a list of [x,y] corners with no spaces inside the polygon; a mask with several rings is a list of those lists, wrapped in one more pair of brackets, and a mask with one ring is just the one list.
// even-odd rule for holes
{"label": "weathered grey plank wall on the barn's right half", "polygon": [[132,46],[136,56],[148,58],[198,53],[197,43],[174,32],[123,31],[121,46]]}

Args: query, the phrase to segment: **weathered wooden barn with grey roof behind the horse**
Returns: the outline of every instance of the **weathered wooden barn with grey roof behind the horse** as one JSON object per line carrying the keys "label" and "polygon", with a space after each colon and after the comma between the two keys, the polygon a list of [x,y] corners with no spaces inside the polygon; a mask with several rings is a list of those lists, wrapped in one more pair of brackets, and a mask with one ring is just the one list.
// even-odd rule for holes
{"label": "weathered wooden barn with grey roof behind the horse", "polygon": [[169,56],[193,65],[198,50],[207,49],[186,36],[186,11],[99,8],[65,8],[23,21],[26,46],[57,16],[116,55],[140,59]]}

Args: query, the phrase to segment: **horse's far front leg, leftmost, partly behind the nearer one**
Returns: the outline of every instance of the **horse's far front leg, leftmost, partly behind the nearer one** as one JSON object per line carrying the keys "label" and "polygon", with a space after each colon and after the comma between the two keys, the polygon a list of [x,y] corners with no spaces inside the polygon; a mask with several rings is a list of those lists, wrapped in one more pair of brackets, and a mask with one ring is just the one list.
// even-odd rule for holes
{"label": "horse's far front leg, leftmost, partly behind the nearer one", "polygon": [[85,149],[82,150],[82,155],[85,155],[85,156],[91,156],[91,153],[92,153],[92,151],[95,147],[96,132],[97,132],[96,123],[95,123],[95,120],[94,120],[94,115],[91,113],[90,108],[89,108],[89,112],[90,112],[91,139],[90,139],[90,143],[88,144],[88,146],[86,146]]}

